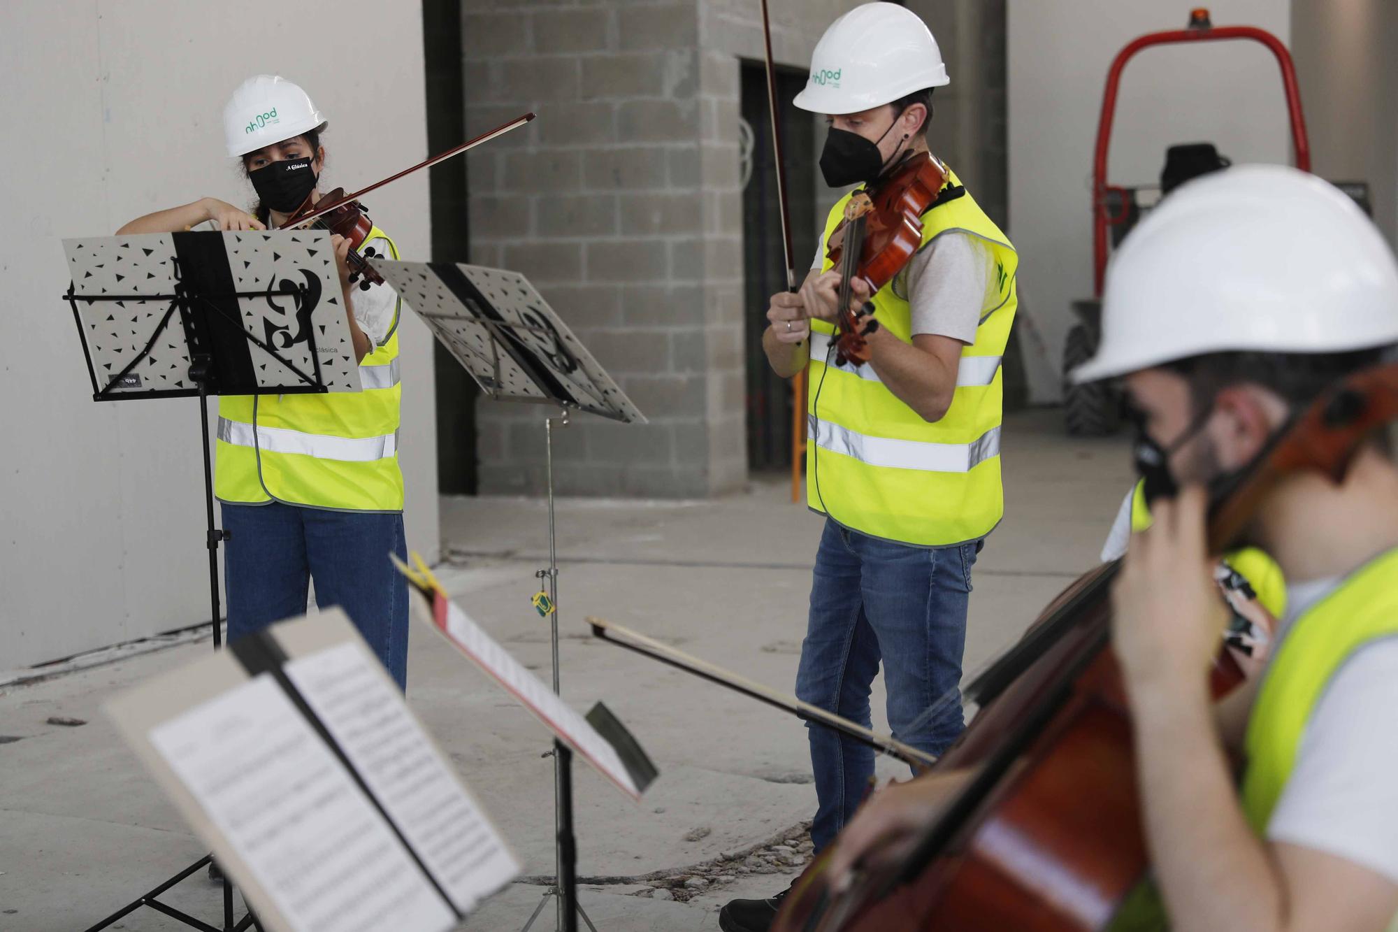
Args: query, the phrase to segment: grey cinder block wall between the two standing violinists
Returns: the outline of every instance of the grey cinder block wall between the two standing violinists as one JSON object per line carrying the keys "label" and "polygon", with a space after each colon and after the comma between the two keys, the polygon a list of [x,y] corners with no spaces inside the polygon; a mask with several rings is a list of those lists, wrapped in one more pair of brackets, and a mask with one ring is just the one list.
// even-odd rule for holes
{"label": "grey cinder block wall between the two standing violinists", "polygon": [[[804,69],[850,0],[773,0]],[[527,274],[650,417],[555,432],[565,494],[707,497],[747,479],[740,57],[756,0],[463,0],[471,255]],[[544,487],[548,409],[480,402],[481,491]]]}

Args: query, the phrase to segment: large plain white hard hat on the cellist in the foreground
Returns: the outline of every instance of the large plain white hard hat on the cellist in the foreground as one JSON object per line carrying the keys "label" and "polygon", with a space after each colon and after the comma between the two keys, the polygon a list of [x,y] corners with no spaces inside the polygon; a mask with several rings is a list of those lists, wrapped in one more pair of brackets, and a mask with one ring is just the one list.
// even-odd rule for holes
{"label": "large plain white hard hat on the cellist in the foreground", "polygon": [[1107,266],[1092,382],[1208,353],[1398,343],[1398,262],[1338,188],[1281,165],[1183,185]]}

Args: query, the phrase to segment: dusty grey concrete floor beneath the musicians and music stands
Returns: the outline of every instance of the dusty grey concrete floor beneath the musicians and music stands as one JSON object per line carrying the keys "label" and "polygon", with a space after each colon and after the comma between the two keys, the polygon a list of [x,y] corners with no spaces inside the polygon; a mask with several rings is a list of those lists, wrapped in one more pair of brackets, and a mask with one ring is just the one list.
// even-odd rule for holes
{"label": "dusty grey concrete floor beneath the musicians and music stands", "polygon": [[[1069,442],[1057,411],[1011,417],[1004,456],[1007,518],[974,570],[967,675],[1096,561],[1130,483],[1123,442]],[[530,606],[548,554],[544,504],[453,498],[442,508],[443,584],[547,679],[548,627]],[[582,903],[603,932],[714,929],[726,900],[784,887],[798,858],[770,845],[800,841],[815,793],[800,723],[600,644],[583,616],[790,691],[819,529],[776,480],[717,501],[559,502],[563,694],[580,709],[604,700],[661,771],[637,806],[577,768],[577,866],[591,879]],[[207,649],[204,640],[0,691],[0,736],[18,739],[0,744],[0,929],[84,928],[203,854],[101,704]],[[412,631],[408,676],[414,709],[524,862],[526,877],[464,928],[521,928],[554,870],[548,737],[426,630]],[[53,715],[87,723],[46,723]],[[201,875],[166,898],[206,921],[218,914]],[[535,928],[551,926],[552,904]],[[183,926],[141,910],[116,928]]]}

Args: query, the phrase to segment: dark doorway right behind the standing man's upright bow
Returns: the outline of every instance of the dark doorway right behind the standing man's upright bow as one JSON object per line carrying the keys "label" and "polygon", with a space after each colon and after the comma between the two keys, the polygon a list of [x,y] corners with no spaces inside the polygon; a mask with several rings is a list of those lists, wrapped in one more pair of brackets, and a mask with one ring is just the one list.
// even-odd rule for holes
{"label": "dark doorway right behind the standing man's upright bow", "polygon": [[[777,70],[777,102],[781,108],[781,153],[786,157],[787,203],[797,284],[815,256],[819,225],[815,203],[816,118],[791,104],[805,87],[805,71]],[[742,189],[744,340],[748,371],[748,467],[784,469],[791,462],[791,383],[768,365],[762,332],[768,305],[786,288],[781,250],[781,216],[777,203],[772,116],[768,111],[766,67],[742,63],[742,119],[752,127],[752,175]]]}

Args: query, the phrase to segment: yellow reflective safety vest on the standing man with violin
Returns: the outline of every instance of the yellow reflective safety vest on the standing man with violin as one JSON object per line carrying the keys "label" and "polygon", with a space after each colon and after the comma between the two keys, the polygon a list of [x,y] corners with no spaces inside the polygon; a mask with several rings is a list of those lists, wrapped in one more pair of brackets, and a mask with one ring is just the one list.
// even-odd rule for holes
{"label": "yellow reflective safety vest on the standing man with violin", "polygon": [[[830,209],[822,242],[829,242],[853,193]],[[962,350],[956,390],[939,421],[924,421],[900,402],[872,365],[837,367],[830,351],[835,327],[811,322],[807,502],[860,533],[921,547],[984,537],[1005,511],[1001,358],[1018,306],[1019,256],[951,172],[942,199],[923,214],[921,248],[948,232],[970,234],[988,248],[995,287],[987,288],[976,341]],[[832,264],[826,257],[822,269]],[[911,343],[911,308],[895,292],[895,283],[874,295],[875,316],[889,333]]]}

